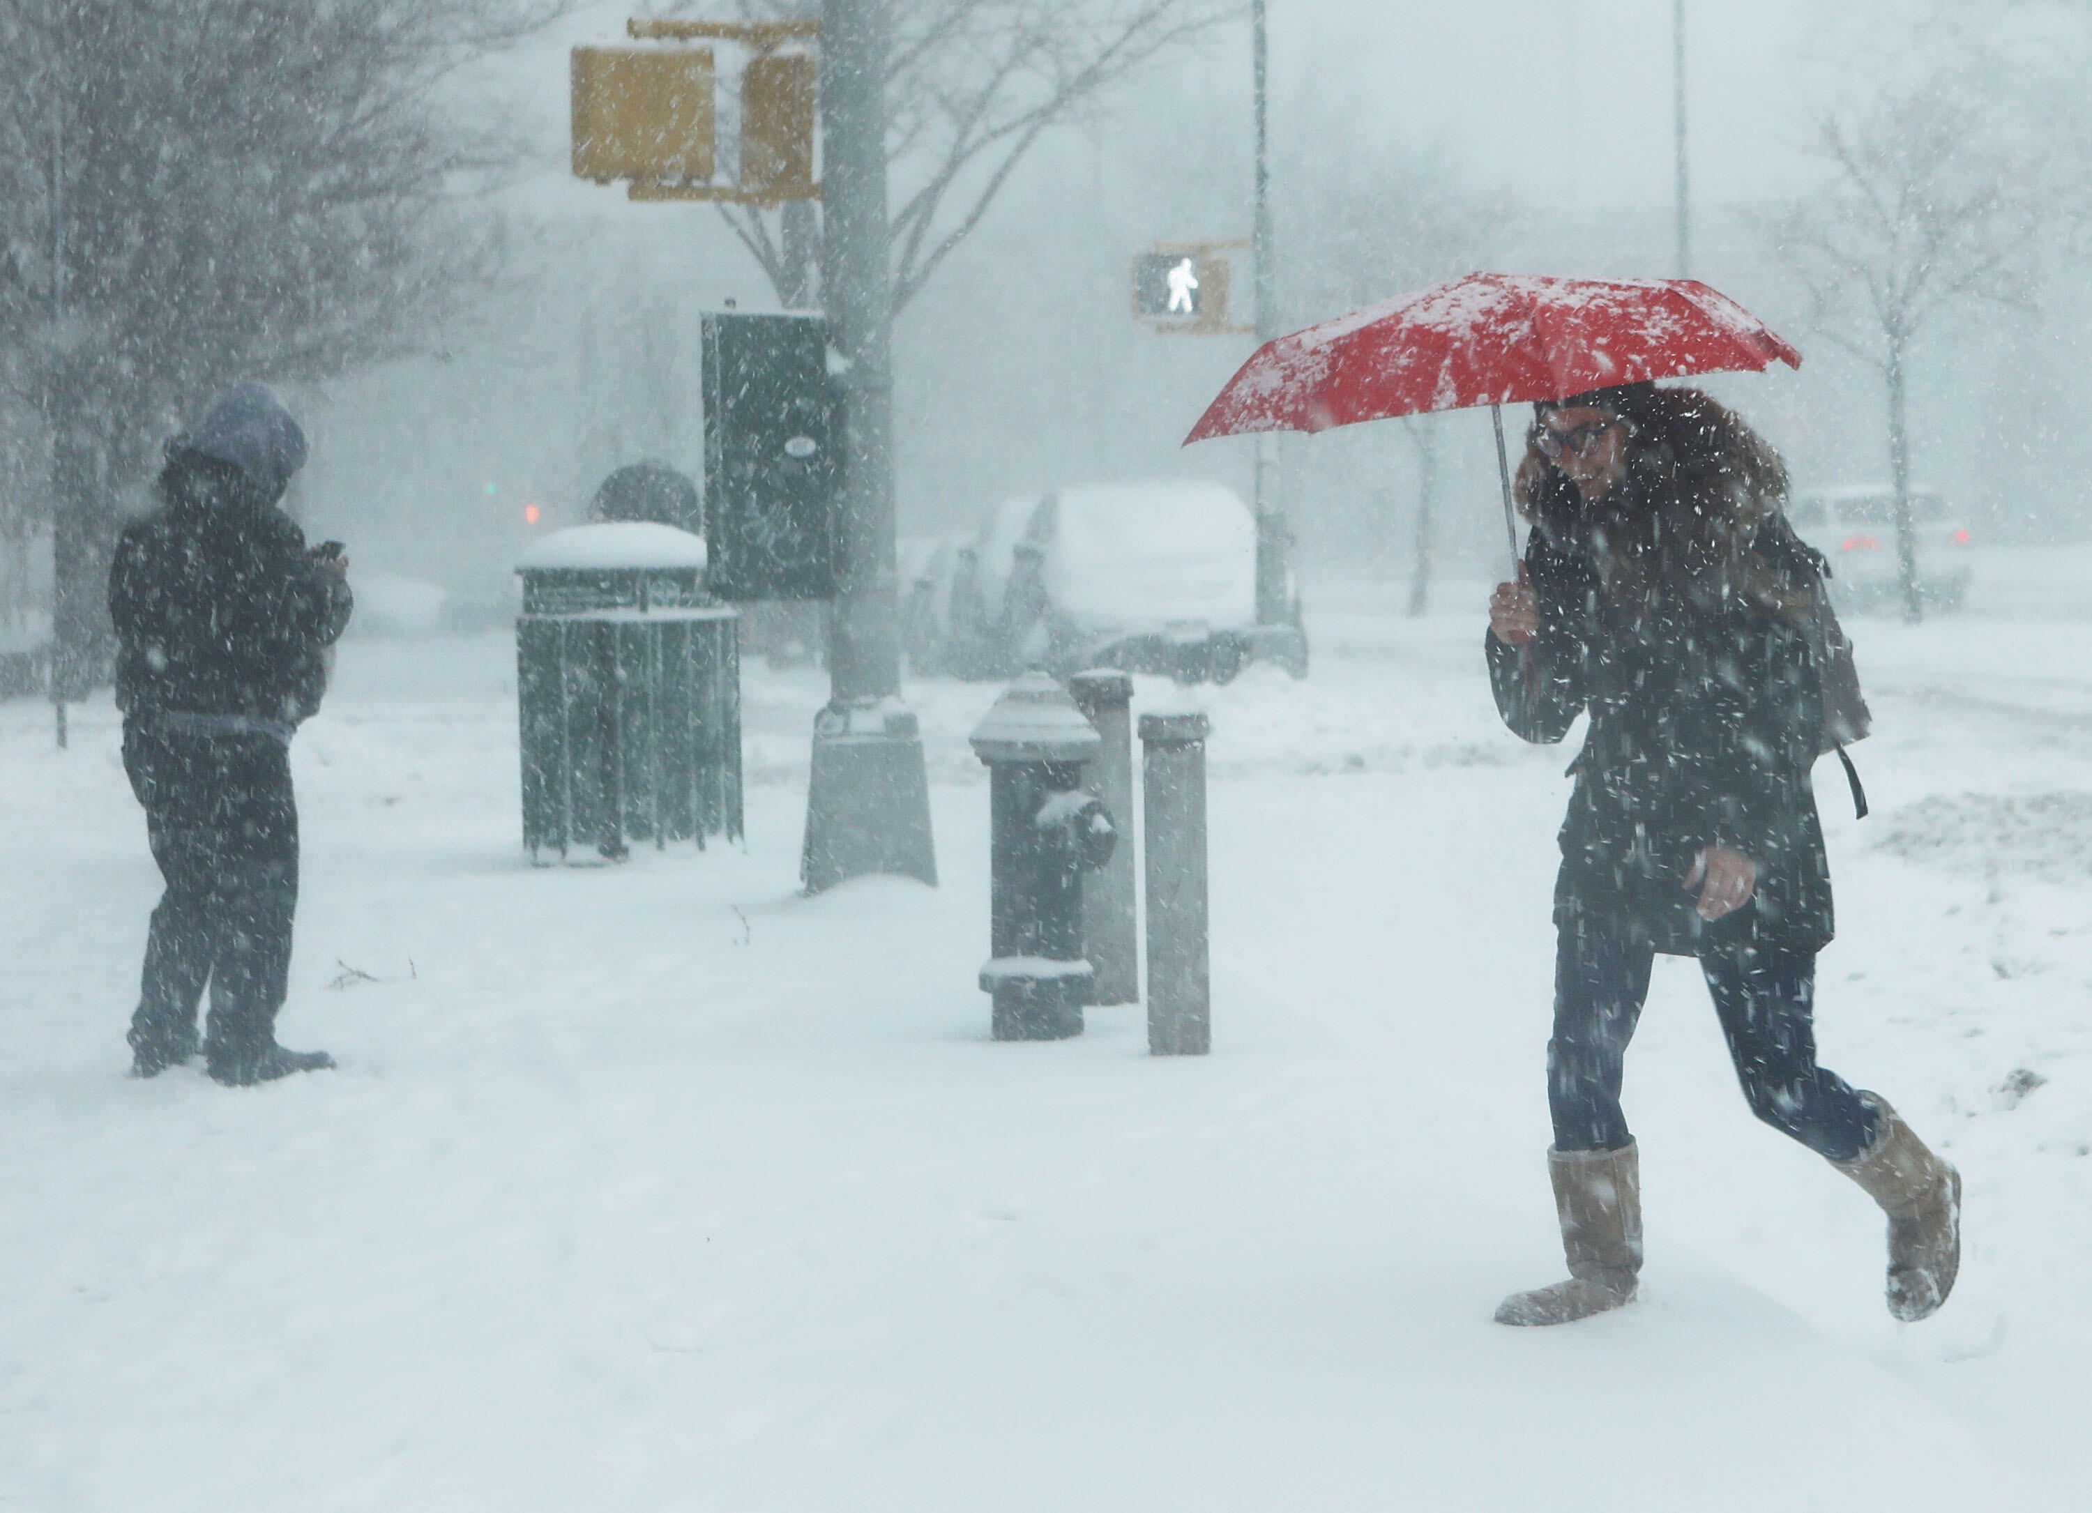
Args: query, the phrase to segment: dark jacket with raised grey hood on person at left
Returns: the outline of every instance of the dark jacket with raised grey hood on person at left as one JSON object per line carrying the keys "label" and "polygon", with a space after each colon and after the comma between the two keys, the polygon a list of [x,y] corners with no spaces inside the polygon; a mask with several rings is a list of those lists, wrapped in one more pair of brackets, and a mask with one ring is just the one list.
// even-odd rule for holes
{"label": "dark jacket with raised grey hood on person at left", "polygon": [[159,509],[123,529],[109,573],[128,718],[289,732],[318,712],[354,599],[276,509],[303,460],[297,421],[257,383],[167,444]]}

